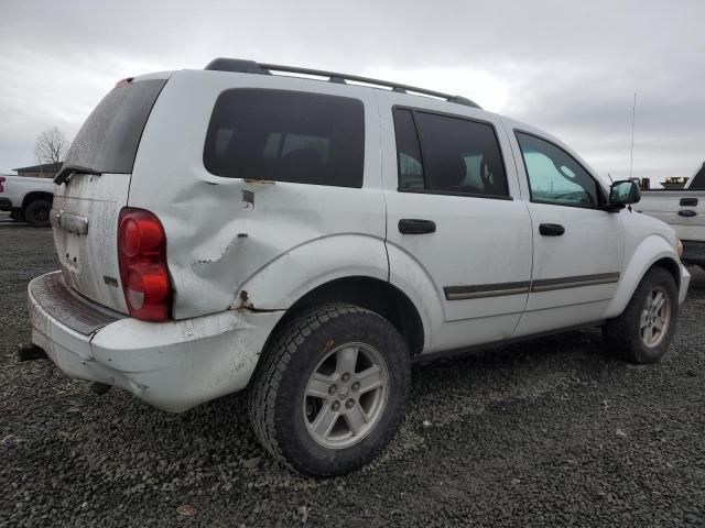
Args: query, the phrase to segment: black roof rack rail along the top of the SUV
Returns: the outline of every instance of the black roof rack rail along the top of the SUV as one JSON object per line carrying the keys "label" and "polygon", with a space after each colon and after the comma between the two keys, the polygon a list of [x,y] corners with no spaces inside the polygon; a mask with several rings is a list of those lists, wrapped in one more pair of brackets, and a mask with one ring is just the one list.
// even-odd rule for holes
{"label": "black roof rack rail along the top of the SUV", "polygon": [[480,108],[475,101],[460,96],[452,96],[449,94],[443,94],[441,91],[427,90],[425,88],[419,88],[415,86],[402,85],[400,82],[391,82],[389,80],[372,79],[370,77],[360,77],[359,75],[339,74],[337,72],[324,72],[322,69],[299,68],[295,66],[282,66],[279,64],[260,64],[254,61],[243,61],[239,58],[216,58],[212,61],[205,69],[217,72],[236,72],[240,74],[259,74],[271,75],[272,72],[281,72],[284,74],[301,74],[312,75],[316,77],[327,77],[329,82],[346,84],[351,80],[352,82],[364,82],[366,85],[381,86],[384,88],[391,88],[392,91],[401,94],[419,94],[422,96],[436,97],[444,99],[448,102],[455,102],[457,105],[465,105],[466,107]]}

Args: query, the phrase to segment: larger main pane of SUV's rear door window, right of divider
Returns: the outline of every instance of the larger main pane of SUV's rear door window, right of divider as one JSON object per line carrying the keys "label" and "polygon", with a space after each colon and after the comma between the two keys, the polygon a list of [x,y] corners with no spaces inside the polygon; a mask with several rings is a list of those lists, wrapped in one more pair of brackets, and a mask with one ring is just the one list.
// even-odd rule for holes
{"label": "larger main pane of SUV's rear door window, right of divider", "polygon": [[430,190],[509,196],[495,129],[459,118],[415,112]]}

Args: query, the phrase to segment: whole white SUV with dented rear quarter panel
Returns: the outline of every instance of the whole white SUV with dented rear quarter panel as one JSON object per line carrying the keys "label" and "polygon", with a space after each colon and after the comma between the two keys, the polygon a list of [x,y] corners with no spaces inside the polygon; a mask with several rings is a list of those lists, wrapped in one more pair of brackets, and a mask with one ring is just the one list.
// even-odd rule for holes
{"label": "whole white SUV with dented rear quarter panel", "polygon": [[56,183],[34,352],[170,411],[247,388],[308,474],[384,448],[421,356],[595,324],[659,360],[690,282],[631,182],[467,99],[341,74],[124,79]]}

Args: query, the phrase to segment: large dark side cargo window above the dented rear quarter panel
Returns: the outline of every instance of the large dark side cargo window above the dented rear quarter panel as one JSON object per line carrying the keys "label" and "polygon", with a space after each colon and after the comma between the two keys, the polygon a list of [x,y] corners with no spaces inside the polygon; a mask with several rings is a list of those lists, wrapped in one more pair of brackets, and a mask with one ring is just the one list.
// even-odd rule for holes
{"label": "large dark side cargo window above the dented rear quarter panel", "polygon": [[362,102],[286,90],[224,91],[203,161],[216,176],[361,187]]}

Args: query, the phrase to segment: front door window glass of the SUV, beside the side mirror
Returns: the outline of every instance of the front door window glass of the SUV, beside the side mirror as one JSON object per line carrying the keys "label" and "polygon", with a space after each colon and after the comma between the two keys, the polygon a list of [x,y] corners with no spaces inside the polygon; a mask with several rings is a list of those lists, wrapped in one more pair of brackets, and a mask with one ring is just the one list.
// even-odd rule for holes
{"label": "front door window glass of the SUV, beside the side mirror", "polygon": [[517,140],[533,201],[583,207],[599,205],[597,183],[573,156],[533,135],[517,132]]}

